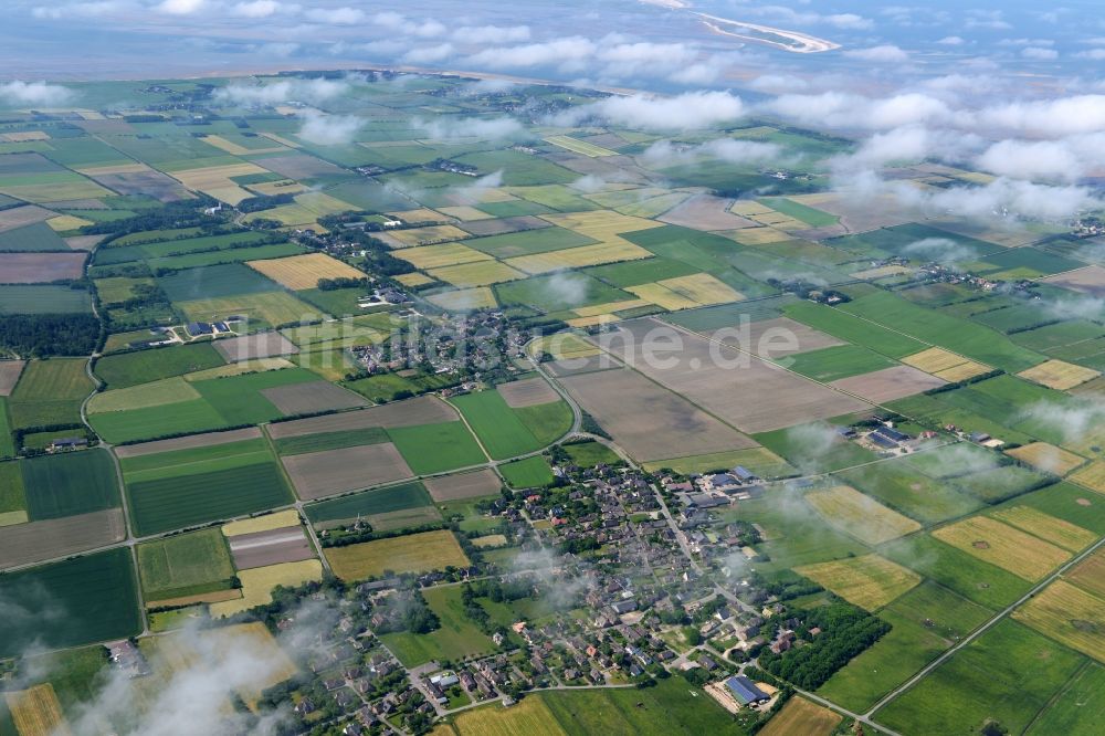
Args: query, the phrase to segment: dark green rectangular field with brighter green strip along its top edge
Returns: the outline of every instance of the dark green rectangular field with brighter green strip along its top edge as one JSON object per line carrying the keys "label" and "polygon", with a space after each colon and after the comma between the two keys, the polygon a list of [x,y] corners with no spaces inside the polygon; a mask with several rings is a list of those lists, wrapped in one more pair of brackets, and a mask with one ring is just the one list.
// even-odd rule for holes
{"label": "dark green rectangular field with brighter green strip along its top edge", "polygon": [[273,462],[128,483],[127,497],[139,536],[244,516],[293,501]]}

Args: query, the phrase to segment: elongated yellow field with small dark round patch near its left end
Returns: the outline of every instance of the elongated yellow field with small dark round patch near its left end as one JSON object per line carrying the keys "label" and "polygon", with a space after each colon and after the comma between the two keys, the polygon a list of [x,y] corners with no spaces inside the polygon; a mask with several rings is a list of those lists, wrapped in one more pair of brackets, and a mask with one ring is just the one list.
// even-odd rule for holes
{"label": "elongated yellow field with small dark round patch near its left end", "polygon": [[936,529],[933,536],[1031,581],[1071,559],[1066,550],[986,516],[956,522]]}

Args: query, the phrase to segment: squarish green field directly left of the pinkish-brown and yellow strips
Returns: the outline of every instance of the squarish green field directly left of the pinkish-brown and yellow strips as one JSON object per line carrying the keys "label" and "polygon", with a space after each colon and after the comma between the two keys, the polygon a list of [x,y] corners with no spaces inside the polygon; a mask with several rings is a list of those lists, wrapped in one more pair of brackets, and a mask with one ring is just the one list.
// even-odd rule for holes
{"label": "squarish green field directly left of the pinkish-brown and yellow strips", "polygon": [[136,549],[138,577],[147,601],[231,587],[234,564],[221,529],[203,529],[147,542]]}

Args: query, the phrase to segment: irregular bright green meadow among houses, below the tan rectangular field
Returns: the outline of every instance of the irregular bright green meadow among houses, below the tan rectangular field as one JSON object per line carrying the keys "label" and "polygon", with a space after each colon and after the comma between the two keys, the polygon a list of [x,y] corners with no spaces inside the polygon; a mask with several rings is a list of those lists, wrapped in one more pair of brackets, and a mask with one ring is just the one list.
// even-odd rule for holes
{"label": "irregular bright green meadow among houses, below the tan rectangular field", "polygon": [[418,666],[431,660],[459,661],[491,654],[497,649],[491,638],[464,614],[460,586],[429,588],[422,595],[441,620],[441,628],[427,634],[401,632],[380,635],[380,641],[406,666]]}

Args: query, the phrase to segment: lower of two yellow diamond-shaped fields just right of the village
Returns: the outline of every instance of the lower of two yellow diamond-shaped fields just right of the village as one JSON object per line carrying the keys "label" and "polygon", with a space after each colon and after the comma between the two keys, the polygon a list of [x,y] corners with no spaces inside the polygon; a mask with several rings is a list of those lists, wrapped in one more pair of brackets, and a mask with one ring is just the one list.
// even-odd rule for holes
{"label": "lower of two yellow diamond-shaped fields just right of the village", "polygon": [[803,565],[794,571],[869,611],[886,606],[920,582],[920,576],[913,570],[874,554]]}

